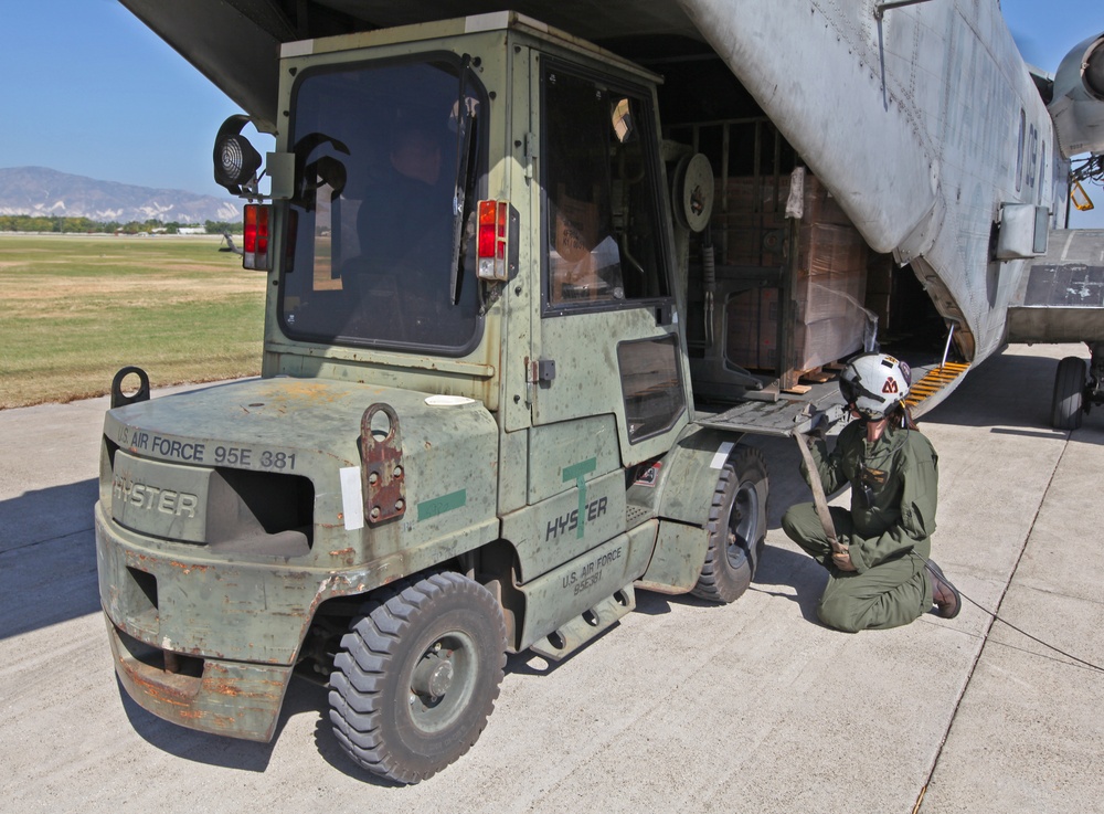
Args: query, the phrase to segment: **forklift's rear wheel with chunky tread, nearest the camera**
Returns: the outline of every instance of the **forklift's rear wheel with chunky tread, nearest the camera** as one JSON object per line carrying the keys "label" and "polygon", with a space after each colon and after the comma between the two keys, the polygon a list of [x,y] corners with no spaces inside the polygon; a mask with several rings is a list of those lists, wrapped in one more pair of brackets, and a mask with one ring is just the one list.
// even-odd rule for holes
{"label": "forklift's rear wheel with chunky tread, nearest the camera", "polygon": [[330,721],[359,765],[417,783],[478,740],[506,666],[506,624],[490,591],[444,572],[395,583],[341,638]]}

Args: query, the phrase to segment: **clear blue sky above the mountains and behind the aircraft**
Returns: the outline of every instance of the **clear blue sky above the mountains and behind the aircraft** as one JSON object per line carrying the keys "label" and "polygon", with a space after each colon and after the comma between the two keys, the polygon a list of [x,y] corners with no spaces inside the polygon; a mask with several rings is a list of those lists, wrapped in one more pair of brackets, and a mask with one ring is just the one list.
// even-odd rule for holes
{"label": "clear blue sky above the mountains and behind the aircraft", "polygon": [[[1002,8],[1025,59],[1050,72],[1104,31],[1104,0]],[[0,0],[0,166],[222,193],[211,145],[237,107],[116,0]],[[1104,228],[1104,189],[1090,193],[1097,209],[1074,225]]]}

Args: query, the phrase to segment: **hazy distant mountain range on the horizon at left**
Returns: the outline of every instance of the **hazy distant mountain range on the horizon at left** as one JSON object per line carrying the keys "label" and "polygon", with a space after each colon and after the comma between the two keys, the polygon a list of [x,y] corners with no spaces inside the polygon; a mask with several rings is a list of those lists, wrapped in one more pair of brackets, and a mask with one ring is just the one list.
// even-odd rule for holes
{"label": "hazy distant mountain range on the horizon at left", "polygon": [[45,167],[0,168],[0,215],[87,218],[97,222],[233,222],[242,204],[233,198],[179,189],[97,181]]}

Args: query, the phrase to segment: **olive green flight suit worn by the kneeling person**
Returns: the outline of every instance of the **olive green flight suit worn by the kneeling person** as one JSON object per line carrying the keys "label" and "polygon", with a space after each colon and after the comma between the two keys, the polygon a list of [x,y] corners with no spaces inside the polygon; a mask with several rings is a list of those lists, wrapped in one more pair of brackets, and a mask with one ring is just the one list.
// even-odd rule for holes
{"label": "olive green flight suit worn by the kneeling person", "polygon": [[[888,425],[867,442],[861,421],[843,427],[828,454],[810,444],[825,494],[851,485],[851,510],[829,507],[836,535],[850,548],[854,571],[841,571],[813,504],[792,506],[782,526],[828,569],[817,616],[829,627],[857,632],[909,624],[932,607],[932,583],[920,557],[931,557],[938,493],[938,456],[915,430]],[[802,464],[808,480],[808,469]]]}

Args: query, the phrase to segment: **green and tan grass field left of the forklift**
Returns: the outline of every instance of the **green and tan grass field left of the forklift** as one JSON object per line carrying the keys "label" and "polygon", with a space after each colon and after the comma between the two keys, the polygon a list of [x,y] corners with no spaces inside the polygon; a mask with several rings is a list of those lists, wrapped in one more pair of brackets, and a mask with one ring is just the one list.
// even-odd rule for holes
{"label": "green and tan grass field left of the forklift", "polygon": [[0,233],[0,409],[259,372],[266,276],[219,244]]}

